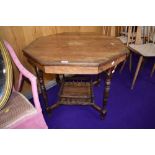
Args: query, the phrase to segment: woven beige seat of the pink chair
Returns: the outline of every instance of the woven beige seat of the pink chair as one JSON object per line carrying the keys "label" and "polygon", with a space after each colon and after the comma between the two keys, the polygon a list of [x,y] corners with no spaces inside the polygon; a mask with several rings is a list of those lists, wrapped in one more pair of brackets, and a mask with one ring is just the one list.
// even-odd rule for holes
{"label": "woven beige seat of the pink chair", "polygon": [[19,92],[13,92],[7,106],[0,111],[0,128],[9,128],[18,121],[37,113],[34,106]]}

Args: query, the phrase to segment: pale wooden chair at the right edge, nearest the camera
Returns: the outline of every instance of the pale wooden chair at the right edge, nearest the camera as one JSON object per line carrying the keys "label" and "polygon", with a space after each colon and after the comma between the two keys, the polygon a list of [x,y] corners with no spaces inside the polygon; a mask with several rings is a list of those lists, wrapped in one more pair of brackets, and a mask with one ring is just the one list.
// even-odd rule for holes
{"label": "pale wooden chair at the right edge, nearest the camera", "polygon": [[[130,29],[129,31],[131,32],[131,27],[129,29]],[[132,81],[131,89],[134,88],[134,85],[144,58],[155,57],[154,37],[152,37],[153,33],[154,33],[153,27],[138,26],[135,43],[131,43],[128,45],[129,49],[132,52],[135,52],[140,56],[137,64],[136,72],[134,74],[134,78]]]}

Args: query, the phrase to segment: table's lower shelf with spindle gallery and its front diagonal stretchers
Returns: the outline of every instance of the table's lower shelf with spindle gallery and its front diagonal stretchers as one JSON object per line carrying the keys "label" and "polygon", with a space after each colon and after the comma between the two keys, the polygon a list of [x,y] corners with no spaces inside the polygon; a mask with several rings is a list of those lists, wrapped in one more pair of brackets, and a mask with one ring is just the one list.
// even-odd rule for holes
{"label": "table's lower shelf with spindle gallery and its front diagonal stretchers", "polygon": [[48,107],[47,111],[51,112],[60,105],[89,105],[100,113],[102,119],[107,113],[105,109],[94,103],[93,83],[89,79],[63,79],[59,91],[59,101]]}

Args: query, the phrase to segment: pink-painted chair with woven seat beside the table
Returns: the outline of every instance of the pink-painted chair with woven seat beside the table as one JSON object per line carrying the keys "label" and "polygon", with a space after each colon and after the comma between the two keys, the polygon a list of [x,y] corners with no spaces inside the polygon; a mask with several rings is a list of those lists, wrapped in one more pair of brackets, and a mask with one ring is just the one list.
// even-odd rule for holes
{"label": "pink-painted chair with woven seat beside the table", "polygon": [[[38,98],[36,77],[24,68],[7,41],[0,41],[0,44],[3,47],[1,50],[9,52],[20,72],[18,86],[13,87],[8,102],[0,110],[0,128],[47,128]],[[34,106],[19,92],[23,77],[31,83]]]}

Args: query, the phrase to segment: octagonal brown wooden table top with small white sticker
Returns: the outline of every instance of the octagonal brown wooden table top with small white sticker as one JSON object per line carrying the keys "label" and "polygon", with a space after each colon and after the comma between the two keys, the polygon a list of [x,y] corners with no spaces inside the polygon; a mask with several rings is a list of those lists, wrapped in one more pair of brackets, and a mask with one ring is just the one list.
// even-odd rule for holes
{"label": "octagonal brown wooden table top with small white sticker", "polygon": [[97,74],[108,69],[108,64],[116,65],[123,61],[129,51],[115,37],[62,33],[41,37],[25,47],[23,52],[29,61],[46,73]]}

